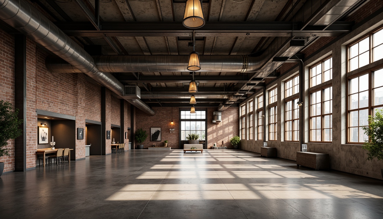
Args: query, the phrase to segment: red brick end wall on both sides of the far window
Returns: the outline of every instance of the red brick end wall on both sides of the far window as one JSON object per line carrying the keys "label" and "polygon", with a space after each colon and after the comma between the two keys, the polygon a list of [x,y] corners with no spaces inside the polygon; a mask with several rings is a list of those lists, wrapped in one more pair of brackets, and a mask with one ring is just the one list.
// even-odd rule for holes
{"label": "red brick end wall on both sides of the far window", "polygon": [[[161,127],[161,142],[151,142],[150,136],[148,136],[147,140],[143,143],[144,148],[150,147],[154,143],[156,146],[162,146],[164,140],[169,141],[168,147],[179,148],[179,108],[173,107],[174,125],[170,125],[172,121],[172,107],[153,107],[153,110],[156,112],[154,116],[148,116],[141,110],[136,110],[136,130],[143,128],[149,135],[150,127]],[[224,141],[225,146],[231,147],[229,143],[230,138],[239,134],[238,110],[238,107],[229,107],[229,109],[223,111],[222,122],[217,125],[212,123],[213,112],[217,111],[217,108],[208,108],[208,148],[211,148],[214,142],[221,145],[222,141]],[[170,128],[174,128],[173,133],[170,133]]]}

